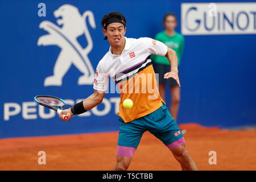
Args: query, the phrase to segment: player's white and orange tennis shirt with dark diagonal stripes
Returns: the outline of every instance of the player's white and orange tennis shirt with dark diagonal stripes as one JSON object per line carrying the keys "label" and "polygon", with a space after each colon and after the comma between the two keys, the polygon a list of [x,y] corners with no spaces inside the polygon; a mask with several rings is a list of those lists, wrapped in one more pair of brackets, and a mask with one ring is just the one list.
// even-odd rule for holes
{"label": "player's white and orange tennis shirt with dark diagonal stripes", "polygon": [[[167,46],[158,40],[151,38],[132,39],[125,37],[125,48],[121,55],[113,55],[111,47],[105,56],[100,60],[96,68],[93,88],[99,91],[106,91],[111,77],[119,86],[120,90],[126,88],[129,82],[134,86],[146,88],[147,84],[156,85],[155,72],[152,67],[150,55],[165,56]],[[154,78],[146,79],[144,82],[136,81],[142,74],[151,74]],[[152,113],[162,106],[162,98],[156,89],[157,97],[155,100],[148,100],[151,93],[120,93],[121,101],[119,104],[119,116],[125,122],[143,117]],[[134,102],[132,109],[125,109],[122,106],[123,100],[130,98]]]}

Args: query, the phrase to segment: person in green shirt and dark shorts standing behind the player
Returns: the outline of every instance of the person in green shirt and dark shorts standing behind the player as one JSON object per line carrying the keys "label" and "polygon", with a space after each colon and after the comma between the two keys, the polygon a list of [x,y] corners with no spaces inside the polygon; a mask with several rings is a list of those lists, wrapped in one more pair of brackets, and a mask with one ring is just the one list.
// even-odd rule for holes
{"label": "person in green shirt and dark shorts standing behind the player", "polygon": [[[165,30],[156,34],[155,40],[163,42],[167,47],[176,52],[178,66],[180,66],[180,58],[184,48],[184,37],[175,31],[175,27],[177,26],[175,14],[167,13],[164,15],[163,25]],[[170,86],[172,98],[170,113],[172,118],[177,121],[180,105],[180,86],[177,85],[177,82],[173,78],[164,79],[164,74],[170,72],[170,63],[166,57],[151,55],[151,60],[153,61],[155,73],[159,73],[159,92],[163,100],[166,100],[166,86]],[[183,133],[185,133],[185,130],[183,130]]]}

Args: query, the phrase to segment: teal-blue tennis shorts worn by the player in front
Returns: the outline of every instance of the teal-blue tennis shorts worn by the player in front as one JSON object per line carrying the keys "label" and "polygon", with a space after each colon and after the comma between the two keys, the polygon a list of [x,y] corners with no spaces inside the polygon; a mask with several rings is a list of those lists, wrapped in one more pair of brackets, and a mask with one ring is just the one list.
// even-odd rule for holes
{"label": "teal-blue tennis shorts worn by the player in front", "polygon": [[166,105],[133,121],[125,123],[121,117],[119,117],[119,121],[121,121],[121,125],[119,127],[118,146],[137,148],[145,131],[150,131],[166,146],[183,137]]}

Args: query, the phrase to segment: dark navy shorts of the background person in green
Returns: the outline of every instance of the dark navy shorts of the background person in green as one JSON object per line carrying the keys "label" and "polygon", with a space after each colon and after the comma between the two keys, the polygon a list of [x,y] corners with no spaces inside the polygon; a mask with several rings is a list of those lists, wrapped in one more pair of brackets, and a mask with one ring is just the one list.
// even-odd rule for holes
{"label": "dark navy shorts of the background person in green", "polygon": [[170,65],[153,63],[153,68],[155,73],[159,74],[159,77],[158,77],[159,84],[164,84],[168,86],[179,86],[177,82],[174,80],[174,78],[164,79],[164,74],[166,74],[167,72],[170,72],[171,70]]}

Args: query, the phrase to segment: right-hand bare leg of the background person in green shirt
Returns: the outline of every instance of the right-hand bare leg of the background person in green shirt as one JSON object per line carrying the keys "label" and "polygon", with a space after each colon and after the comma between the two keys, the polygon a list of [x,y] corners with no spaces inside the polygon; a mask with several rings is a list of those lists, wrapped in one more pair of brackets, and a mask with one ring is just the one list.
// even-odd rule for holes
{"label": "right-hand bare leg of the background person in green shirt", "polygon": [[172,118],[174,118],[174,120],[177,121],[177,113],[179,111],[179,106],[180,106],[180,87],[171,86],[170,89],[171,89],[171,96],[172,96],[170,113],[172,115]]}

